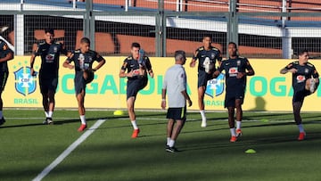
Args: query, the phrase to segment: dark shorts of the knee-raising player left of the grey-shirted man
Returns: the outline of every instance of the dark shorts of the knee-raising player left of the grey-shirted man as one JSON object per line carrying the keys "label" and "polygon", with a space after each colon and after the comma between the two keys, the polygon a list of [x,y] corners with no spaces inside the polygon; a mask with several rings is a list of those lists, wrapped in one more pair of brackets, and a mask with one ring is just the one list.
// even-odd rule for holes
{"label": "dark shorts of the knee-raising player left of the grey-shirted man", "polygon": [[127,99],[133,96],[136,97],[138,91],[142,90],[145,86],[147,86],[147,83],[147,77],[128,80]]}

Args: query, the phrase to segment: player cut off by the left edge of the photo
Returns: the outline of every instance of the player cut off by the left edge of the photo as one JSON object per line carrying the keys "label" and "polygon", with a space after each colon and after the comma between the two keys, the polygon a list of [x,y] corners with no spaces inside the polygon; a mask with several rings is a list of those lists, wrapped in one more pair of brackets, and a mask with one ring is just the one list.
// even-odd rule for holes
{"label": "player cut off by the left edge of the photo", "polygon": [[4,91],[4,86],[8,79],[9,69],[8,61],[13,59],[13,52],[9,46],[0,39],[0,126],[4,124],[5,119],[3,115],[4,103],[2,100],[2,93]]}

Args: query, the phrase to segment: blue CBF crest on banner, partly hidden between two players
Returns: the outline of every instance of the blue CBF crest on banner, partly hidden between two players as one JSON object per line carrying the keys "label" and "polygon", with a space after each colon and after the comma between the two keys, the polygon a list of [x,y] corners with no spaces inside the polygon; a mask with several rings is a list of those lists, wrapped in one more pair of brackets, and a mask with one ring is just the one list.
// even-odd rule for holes
{"label": "blue CBF crest on banner, partly hidden between two players", "polygon": [[222,95],[224,92],[224,77],[224,74],[221,73],[218,78],[210,79],[206,86],[205,95],[209,95],[211,98]]}

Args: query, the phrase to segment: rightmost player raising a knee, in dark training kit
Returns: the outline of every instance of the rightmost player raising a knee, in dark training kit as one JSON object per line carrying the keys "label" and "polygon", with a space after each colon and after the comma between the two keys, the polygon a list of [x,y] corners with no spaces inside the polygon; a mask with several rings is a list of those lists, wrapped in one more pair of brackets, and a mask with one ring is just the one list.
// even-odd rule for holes
{"label": "rightmost player raising a knee, in dark training kit", "polygon": [[289,63],[284,69],[280,70],[280,73],[285,74],[287,72],[292,73],[292,88],[294,94],[292,97],[292,108],[295,123],[299,128],[298,140],[304,140],[306,133],[302,125],[302,119],[300,118],[300,109],[304,98],[307,95],[311,95],[317,90],[319,84],[319,75],[313,64],[309,61],[308,50],[302,50],[299,52],[299,61]]}

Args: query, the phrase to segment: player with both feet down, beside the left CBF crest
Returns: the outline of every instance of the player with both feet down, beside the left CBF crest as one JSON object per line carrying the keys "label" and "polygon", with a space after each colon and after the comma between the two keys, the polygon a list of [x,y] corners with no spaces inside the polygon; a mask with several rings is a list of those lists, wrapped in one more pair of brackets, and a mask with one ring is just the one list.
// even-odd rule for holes
{"label": "player with both feet down, beside the left CBF crest", "polygon": [[45,29],[45,41],[37,45],[30,58],[30,75],[36,76],[34,63],[37,56],[41,57],[39,70],[39,86],[45,110],[44,124],[53,124],[54,95],[58,85],[59,56],[67,55],[68,51],[60,42],[54,39],[53,29]]}

